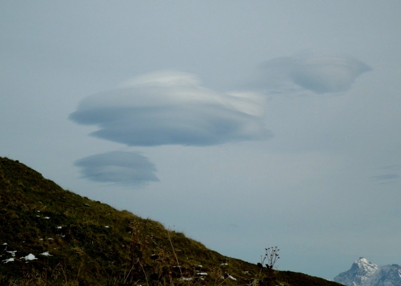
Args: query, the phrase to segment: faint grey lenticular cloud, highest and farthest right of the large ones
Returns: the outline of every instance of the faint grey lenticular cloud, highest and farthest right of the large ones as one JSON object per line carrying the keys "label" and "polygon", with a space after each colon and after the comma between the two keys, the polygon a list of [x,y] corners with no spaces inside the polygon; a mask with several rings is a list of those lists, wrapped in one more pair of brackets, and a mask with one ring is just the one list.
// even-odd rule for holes
{"label": "faint grey lenticular cloud, highest and farthest right of the large ones", "polygon": [[317,94],[344,92],[359,75],[369,70],[365,63],[344,56],[280,57],[263,64],[258,85],[282,88],[295,84]]}

